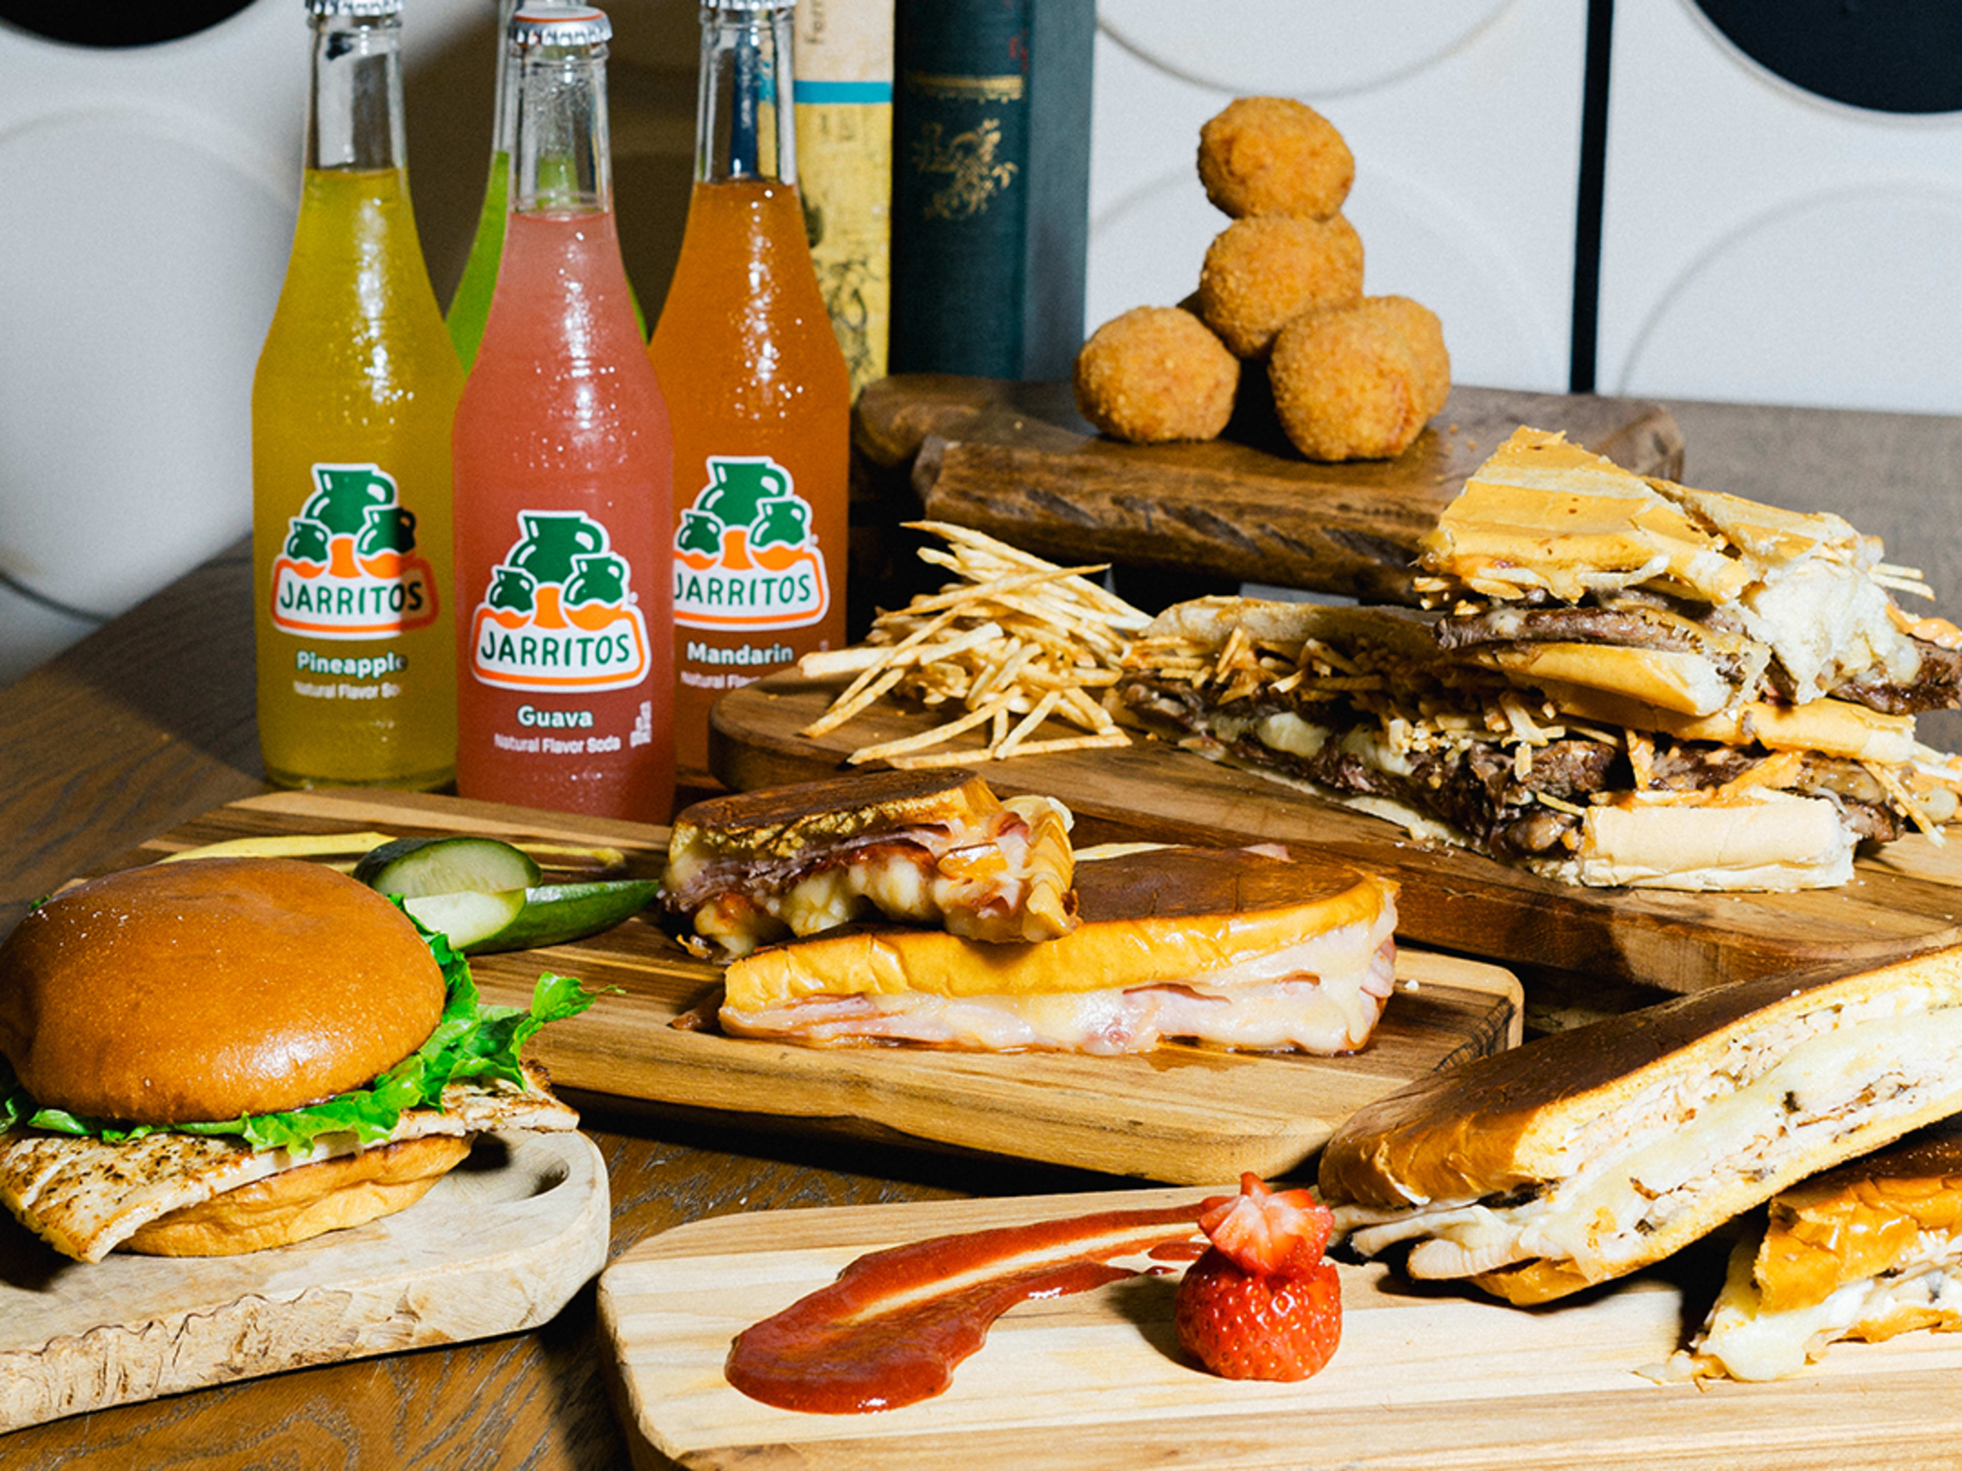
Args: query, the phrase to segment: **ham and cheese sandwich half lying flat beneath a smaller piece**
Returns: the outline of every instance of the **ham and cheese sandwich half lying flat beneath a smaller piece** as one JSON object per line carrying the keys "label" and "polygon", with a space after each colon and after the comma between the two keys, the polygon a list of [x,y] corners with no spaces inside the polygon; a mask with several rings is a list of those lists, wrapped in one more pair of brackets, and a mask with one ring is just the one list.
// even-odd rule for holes
{"label": "ham and cheese sandwich half lying flat beneath a smaller piece", "polygon": [[1067,936],[838,930],[734,961],[720,1018],[812,1045],[1356,1051],[1395,985],[1395,892],[1271,849],[1128,851],[1077,863]]}

